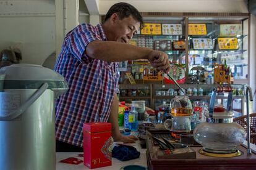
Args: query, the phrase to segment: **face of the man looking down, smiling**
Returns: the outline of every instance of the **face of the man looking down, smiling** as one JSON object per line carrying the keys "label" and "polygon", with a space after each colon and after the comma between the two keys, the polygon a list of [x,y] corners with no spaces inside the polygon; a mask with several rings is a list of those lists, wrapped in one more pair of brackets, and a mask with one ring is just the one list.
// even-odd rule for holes
{"label": "face of the man looking down, smiling", "polygon": [[120,20],[117,16],[114,22],[113,29],[113,41],[128,43],[130,39],[137,33],[139,30],[140,22],[135,20],[132,15],[129,17],[123,18]]}

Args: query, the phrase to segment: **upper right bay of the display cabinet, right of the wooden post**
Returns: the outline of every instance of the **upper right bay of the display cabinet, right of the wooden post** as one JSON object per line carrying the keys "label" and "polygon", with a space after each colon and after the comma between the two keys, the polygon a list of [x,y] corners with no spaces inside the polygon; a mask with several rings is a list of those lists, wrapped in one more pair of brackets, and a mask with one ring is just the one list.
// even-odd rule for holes
{"label": "upper right bay of the display cabinet, right of the wooden post", "polygon": [[211,78],[215,65],[223,64],[235,82],[249,83],[250,18],[248,14],[236,15],[188,17],[188,81],[193,81],[200,70]]}

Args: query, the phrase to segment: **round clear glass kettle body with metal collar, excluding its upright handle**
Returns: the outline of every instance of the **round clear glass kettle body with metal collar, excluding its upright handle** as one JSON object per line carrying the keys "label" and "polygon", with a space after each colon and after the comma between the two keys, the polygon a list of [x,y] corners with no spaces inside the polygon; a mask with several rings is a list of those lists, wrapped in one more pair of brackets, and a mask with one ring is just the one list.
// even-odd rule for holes
{"label": "round clear glass kettle body with metal collar, excluding its upright handle", "polygon": [[[244,127],[233,122],[233,111],[205,113],[207,121],[194,129],[194,139],[211,153],[234,153],[246,139]],[[211,121],[213,120],[213,121]]]}

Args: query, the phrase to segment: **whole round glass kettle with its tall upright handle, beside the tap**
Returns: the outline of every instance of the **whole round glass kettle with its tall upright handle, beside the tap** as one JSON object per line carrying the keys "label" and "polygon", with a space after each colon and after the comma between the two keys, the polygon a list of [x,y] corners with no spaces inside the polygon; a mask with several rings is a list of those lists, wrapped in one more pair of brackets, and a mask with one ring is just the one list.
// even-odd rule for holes
{"label": "whole round glass kettle with its tall upright handle, beside the tap", "polygon": [[[215,105],[218,92],[229,93],[226,108],[223,105]],[[205,112],[207,121],[195,127],[193,133],[195,141],[201,144],[206,152],[234,153],[237,151],[237,146],[241,145],[246,139],[244,127],[233,122],[232,97],[232,87],[213,87],[210,107]]]}

